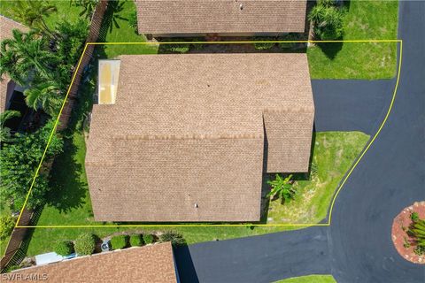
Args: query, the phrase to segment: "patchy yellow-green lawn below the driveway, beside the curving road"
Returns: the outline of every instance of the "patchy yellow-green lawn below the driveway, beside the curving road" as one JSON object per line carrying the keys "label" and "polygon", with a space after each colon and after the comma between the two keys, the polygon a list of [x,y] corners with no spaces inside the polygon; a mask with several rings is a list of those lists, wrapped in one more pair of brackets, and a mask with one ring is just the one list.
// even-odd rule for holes
{"label": "patchy yellow-green lawn below the driveway, beside the curving road", "polygon": [[317,172],[312,174],[311,180],[305,180],[302,175],[298,175],[301,180],[297,180],[297,175],[294,176],[295,199],[284,204],[281,200],[271,201],[267,223],[318,223],[326,218],[336,187],[368,139],[367,134],[359,132],[316,133],[313,164]]}

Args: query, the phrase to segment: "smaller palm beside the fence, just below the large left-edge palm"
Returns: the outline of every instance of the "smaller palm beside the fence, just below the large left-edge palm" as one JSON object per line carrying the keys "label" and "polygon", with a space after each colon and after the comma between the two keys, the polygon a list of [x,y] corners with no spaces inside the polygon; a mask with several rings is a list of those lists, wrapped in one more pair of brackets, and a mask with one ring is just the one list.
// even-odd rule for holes
{"label": "smaller palm beside the fence, just below the large left-edge palm", "polygon": [[50,116],[58,115],[63,96],[60,87],[55,81],[42,80],[33,82],[30,88],[24,91],[28,107],[34,110],[43,110]]}

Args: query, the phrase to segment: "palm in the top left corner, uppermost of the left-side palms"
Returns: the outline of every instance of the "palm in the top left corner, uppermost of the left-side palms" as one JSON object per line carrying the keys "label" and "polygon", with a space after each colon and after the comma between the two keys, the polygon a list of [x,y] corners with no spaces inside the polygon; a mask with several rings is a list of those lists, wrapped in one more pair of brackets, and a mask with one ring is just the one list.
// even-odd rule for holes
{"label": "palm in the top left corner, uppermost of the left-side palms", "polygon": [[55,37],[47,26],[45,18],[57,11],[58,8],[47,1],[19,0],[12,7],[12,16],[28,27],[42,30],[45,34]]}

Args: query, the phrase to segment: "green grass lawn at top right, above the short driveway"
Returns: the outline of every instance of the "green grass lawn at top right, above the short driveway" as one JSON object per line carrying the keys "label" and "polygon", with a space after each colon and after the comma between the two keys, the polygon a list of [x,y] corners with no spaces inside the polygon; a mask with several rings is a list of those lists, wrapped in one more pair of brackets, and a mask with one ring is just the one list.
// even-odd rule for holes
{"label": "green grass lawn at top right, above the short driveway", "polygon": [[[398,1],[352,0],[344,40],[397,39]],[[321,43],[307,50],[313,79],[388,79],[396,74],[397,43]]]}

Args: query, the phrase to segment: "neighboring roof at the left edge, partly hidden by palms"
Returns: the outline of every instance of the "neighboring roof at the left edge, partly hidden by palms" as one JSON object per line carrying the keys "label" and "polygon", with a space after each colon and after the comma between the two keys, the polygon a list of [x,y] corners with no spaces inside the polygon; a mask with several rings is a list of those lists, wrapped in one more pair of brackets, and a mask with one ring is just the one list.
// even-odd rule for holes
{"label": "neighboring roof at the left edge, partly hidden by palms", "polygon": [[[19,24],[12,19],[6,18],[3,15],[0,15],[0,42],[3,42],[6,38],[12,38],[12,30],[19,29],[22,32],[27,32],[28,27]],[[8,88],[8,84],[11,82],[11,78],[7,75],[3,75],[0,79],[0,112],[3,112],[6,108],[6,101],[8,96],[12,95],[12,89]],[[14,86],[14,84],[12,83]]]}

